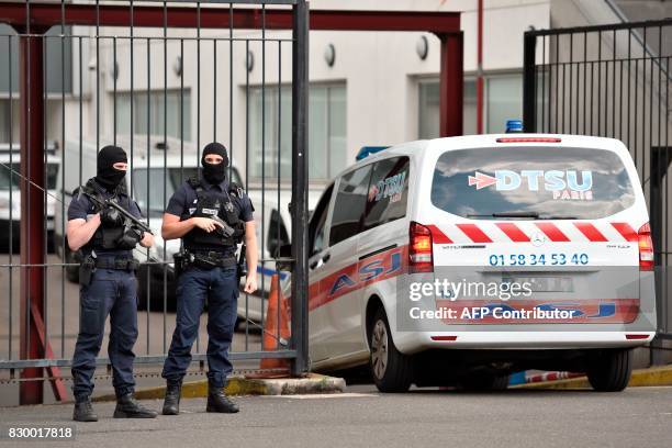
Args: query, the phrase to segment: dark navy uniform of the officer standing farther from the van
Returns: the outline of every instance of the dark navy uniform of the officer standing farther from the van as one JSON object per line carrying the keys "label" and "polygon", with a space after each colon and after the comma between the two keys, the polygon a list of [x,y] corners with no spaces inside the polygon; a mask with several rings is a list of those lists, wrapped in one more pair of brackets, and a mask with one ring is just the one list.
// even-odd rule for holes
{"label": "dark navy uniform of the officer standing farther from the van", "polygon": [[[100,199],[112,198],[136,217],[141,212],[126,194],[123,183],[113,192],[101,187],[94,179],[87,182],[91,193]],[[68,220],[87,220],[100,212],[97,205],[74,192],[68,208]],[[75,399],[83,399],[93,391],[91,381],[96,371],[96,357],[100,352],[105,318],[110,315],[110,343],[108,355],[112,363],[112,384],[117,396],[133,393],[133,346],[137,339],[137,294],[135,264],[131,249],[115,247],[114,242],[123,234],[121,226],[99,226],[93,237],[82,247],[85,258],[93,254],[97,268],[88,284],[79,290],[79,335],[72,358],[72,379]]]}

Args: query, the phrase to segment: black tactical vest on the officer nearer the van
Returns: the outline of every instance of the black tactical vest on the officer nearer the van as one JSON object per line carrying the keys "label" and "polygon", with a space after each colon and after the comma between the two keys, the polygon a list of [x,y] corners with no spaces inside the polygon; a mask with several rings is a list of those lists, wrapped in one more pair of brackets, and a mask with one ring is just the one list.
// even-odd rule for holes
{"label": "black tactical vest on the officer nearer the van", "polygon": [[226,247],[235,247],[240,243],[245,235],[245,223],[238,217],[239,211],[231,201],[229,194],[240,197],[243,190],[235,183],[229,183],[228,192],[220,192],[216,189],[205,190],[197,178],[190,178],[187,183],[195,191],[197,203],[193,208],[184,210],[180,221],[189,220],[190,217],[211,217],[216,215],[228,224],[234,229],[234,233],[229,237],[225,237],[219,231],[208,233],[199,227],[194,227],[183,236],[184,248],[195,251],[222,250]]}

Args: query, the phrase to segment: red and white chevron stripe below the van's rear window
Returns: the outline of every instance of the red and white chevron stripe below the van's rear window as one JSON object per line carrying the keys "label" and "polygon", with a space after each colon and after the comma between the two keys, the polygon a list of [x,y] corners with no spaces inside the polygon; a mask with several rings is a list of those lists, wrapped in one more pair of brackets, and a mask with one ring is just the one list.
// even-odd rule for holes
{"label": "red and white chevron stripe below the van's rear window", "polygon": [[637,243],[637,231],[624,222],[488,222],[428,225],[434,244],[530,243],[542,236],[552,243]]}

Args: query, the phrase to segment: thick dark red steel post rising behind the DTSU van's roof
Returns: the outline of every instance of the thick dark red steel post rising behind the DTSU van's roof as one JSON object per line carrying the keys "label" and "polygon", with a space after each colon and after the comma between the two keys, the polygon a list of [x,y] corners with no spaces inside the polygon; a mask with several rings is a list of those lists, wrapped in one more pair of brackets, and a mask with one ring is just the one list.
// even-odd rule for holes
{"label": "thick dark red steel post rising behind the DTSU van's roof", "polygon": [[462,135],[464,90],[463,34],[439,35],[441,67],[439,72],[439,134],[441,137]]}

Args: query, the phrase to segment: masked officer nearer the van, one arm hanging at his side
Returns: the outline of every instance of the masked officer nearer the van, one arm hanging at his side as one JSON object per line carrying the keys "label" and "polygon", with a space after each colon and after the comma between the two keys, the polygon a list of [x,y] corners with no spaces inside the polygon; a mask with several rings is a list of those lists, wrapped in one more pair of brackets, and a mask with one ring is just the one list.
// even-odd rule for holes
{"label": "masked officer nearer the van, one arm hanging at his side", "polygon": [[238,406],[223,388],[233,370],[228,347],[237,317],[237,245],[245,239],[245,292],[257,289],[257,240],[254,208],[243,189],[226,179],[228,155],[219,143],[203,148],[201,178],[184,182],[170,198],[161,236],[182,238],[178,261],[176,327],[161,376],[166,379],[164,415],[177,415],[182,379],[191,362],[191,346],[208,300],[208,412],[235,413]]}

